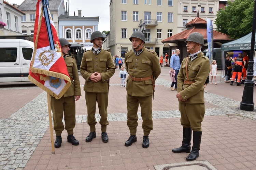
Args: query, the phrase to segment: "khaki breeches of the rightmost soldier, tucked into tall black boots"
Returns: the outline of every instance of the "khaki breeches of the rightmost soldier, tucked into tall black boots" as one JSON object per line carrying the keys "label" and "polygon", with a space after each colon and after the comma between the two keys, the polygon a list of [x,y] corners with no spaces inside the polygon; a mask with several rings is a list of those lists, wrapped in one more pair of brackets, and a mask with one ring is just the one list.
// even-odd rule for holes
{"label": "khaki breeches of the rightmost soldier, tucked into tall black boots", "polygon": [[179,102],[179,110],[181,112],[181,125],[184,128],[202,131],[201,122],[205,113],[204,103],[190,104]]}

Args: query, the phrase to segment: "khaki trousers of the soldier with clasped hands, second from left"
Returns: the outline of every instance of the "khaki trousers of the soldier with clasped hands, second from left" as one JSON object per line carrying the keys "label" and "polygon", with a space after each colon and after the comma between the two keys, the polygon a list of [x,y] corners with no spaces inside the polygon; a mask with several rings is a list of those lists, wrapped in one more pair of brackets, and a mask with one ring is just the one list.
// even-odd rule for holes
{"label": "khaki trousers of the soldier with clasped hands, second from left", "polygon": [[108,122],[108,93],[95,93],[85,92],[85,101],[87,106],[87,123],[90,125],[90,132],[96,131],[95,125],[97,123],[95,118],[96,113],[96,102],[98,103],[101,132],[106,132],[106,125]]}

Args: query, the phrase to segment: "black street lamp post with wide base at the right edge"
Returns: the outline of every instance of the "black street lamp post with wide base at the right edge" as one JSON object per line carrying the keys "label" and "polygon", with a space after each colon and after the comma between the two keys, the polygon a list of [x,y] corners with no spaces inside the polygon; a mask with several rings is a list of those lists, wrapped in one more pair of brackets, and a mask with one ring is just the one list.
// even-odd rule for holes
{"label": "black street lamp post with wide base at the right edge", "polygon": [[255,30],[256,30],[256,0],[254,0],[254,11],[253,11],[253,28],[252,28],[252,39],[251,39],[251,51],[250,60],[247,69],[247,80],[244,81],[244,91],[242,101],[240,102],[240,109],[245,111],[253,111],[253,60],[254,60],[254,42],[255,42]]}

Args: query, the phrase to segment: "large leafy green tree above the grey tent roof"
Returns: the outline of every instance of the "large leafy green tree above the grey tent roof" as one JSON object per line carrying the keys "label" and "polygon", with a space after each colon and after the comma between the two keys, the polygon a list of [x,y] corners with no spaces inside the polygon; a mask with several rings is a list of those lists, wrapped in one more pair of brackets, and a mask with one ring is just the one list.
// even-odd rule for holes
{"label": "large leafy green tree above the grey tent roof", "polygon": [[253,9],[254,0],[228,1],[228,6],[217,12],[217,31],[234,39],[252,32]]}

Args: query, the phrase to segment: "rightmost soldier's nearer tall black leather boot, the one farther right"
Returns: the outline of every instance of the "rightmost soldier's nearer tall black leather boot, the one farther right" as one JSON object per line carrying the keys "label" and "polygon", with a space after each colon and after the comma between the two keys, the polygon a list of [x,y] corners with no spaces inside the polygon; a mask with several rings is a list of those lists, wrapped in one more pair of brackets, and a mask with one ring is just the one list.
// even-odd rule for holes
{"label": "rightmost soldier's nearer tall black leather boot, the one farther right", "polygon": [[190,154],[187,156],[187,161],[196,160],[199,156],[199,150],[201,145],[202,131],[193,132],[193,147]]}

